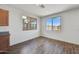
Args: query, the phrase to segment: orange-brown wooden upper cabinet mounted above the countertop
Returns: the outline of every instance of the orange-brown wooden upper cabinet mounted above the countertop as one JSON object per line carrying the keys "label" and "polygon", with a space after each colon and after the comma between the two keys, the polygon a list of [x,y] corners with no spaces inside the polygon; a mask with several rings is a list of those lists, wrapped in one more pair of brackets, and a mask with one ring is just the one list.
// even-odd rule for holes
{"label": "orange-brown wooden upper cabinet mounted above the countertop", "polygon": [[8,26],[8,11],[0,9],[0,26]]}

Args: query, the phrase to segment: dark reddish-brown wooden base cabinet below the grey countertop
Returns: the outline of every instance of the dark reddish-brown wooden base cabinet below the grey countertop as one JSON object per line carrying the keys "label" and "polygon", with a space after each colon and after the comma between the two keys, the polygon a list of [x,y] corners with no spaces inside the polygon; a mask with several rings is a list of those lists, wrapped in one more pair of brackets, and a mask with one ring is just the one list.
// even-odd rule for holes
{"label": "dark reddish-brown wooden base cabinet below the grey countertop", "polygon": [[5,52],[9,48],[9,35],[0,36],[0,52]]}

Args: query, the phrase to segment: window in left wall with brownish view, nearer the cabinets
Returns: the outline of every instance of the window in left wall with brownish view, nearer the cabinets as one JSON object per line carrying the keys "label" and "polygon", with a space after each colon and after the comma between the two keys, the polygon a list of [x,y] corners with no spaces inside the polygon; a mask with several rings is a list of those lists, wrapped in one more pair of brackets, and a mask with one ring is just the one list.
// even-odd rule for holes
{"label": "window in left wall with brownish view, nearer the cabinets", "polygon": [[37,29],[37,19],[33,17],[23,16],[23,30],[35,30]]}

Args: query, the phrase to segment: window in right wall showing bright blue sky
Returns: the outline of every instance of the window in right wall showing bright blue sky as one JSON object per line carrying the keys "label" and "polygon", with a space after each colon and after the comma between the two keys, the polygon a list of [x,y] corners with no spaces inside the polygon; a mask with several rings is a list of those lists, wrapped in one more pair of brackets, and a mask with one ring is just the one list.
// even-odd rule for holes
{"label": "window in right wall showing bright blue sky", "polygon": [[60,31],[61,28],[60,19],[61,18],[59,16],[47,19],[46,23],[47,30]]}

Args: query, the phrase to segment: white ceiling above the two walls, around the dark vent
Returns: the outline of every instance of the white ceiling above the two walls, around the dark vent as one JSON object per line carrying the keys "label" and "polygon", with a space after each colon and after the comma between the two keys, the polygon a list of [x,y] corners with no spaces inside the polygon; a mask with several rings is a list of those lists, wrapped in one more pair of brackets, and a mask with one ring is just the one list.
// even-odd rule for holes
{"label": "white ceiling above the two walls, around the dark vent", "polygon": [[79,7],[78,4],[45,4],[45,8],[38,7],[36,4],[13,4],[12,6],[37,16],[46,16]]}

